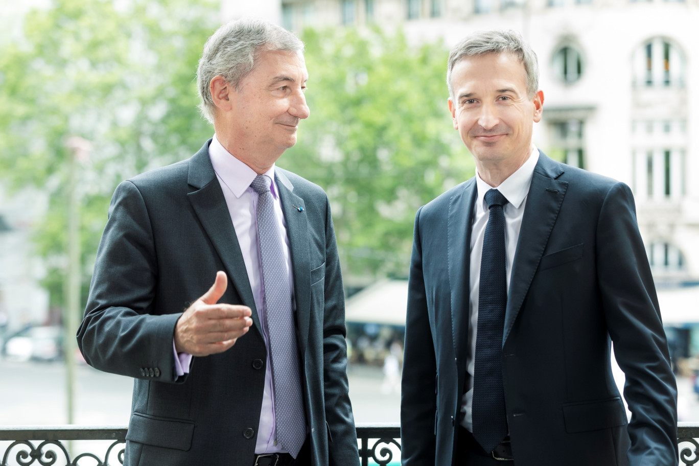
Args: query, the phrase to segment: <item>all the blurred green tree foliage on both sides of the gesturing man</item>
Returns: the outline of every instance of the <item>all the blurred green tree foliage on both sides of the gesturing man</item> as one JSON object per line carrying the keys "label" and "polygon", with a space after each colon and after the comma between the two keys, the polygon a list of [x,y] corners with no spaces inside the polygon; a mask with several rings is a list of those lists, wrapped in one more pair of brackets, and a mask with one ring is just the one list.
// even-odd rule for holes
{"label": "all the blurred green tree foliage on both sides of the gesturing man", "polygon": [[[53,305],[66,265],[66,139],[94,147],[78,187],[84,299],[118,182],[191,156],[212,134],[194,77],[218,25],[214,0],[55,0],[0,50],[0,177],[50,196],[35,239]],[[345,275],[404,276],[417,208],[473,174],[447,111],[447,50],[377,29],[303,40],[311,116],[278,164],[328,191]]]}

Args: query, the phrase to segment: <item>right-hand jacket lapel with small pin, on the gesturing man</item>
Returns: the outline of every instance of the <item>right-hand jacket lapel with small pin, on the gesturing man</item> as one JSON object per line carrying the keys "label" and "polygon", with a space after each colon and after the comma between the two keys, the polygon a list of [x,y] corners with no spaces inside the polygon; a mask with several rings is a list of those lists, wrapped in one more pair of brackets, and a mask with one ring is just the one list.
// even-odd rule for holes
{"label": "right-hand jacket lapel with small pin, on the gesturing man", "polygon": [[310,325],[310,253],[308,238],[308,217],[305,212],[303,199],[292,191],[291,184],[280,168],[275,169],[275,178],[282,202],[284,220],[287,222],[289,235],[289,253],[291,268],[294,272],[294,298],[296,300],[296,326],[298,351],[305,354],[308,342],[308,326]]}

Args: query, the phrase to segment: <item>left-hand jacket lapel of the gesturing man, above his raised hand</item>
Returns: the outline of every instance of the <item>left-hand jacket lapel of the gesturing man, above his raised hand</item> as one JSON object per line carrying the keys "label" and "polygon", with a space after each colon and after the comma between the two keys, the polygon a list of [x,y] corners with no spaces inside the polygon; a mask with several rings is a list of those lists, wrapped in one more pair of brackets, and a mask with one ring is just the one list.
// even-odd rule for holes
{"label": "left-hand jacket lapel of the gesturing man, above his raised hand", "polygon": [[236,287],[240,300],[250,307],[252,321],[258,329],[261,329],[236,230],[233,228],[226,198],[221,191],[221,185],[216,180],[216,173],[209,159],[210,142],[211,140],[189,160],[187,182],[197,190],[187,194],[187,198],[223,262],[230,282]]}

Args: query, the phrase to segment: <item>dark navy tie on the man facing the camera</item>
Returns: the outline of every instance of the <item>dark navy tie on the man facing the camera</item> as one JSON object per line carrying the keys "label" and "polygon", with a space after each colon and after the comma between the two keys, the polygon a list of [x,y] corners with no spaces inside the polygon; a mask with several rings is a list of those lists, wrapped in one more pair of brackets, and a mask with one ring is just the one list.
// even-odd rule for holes
{"label": "dark navy tie on the man facing the camera", "polygon": [[507,436],[507,412],[503,390],[503,328],[507,305],[505,278],[505,196],[490,189],[484,196],[490,214],[483,237],[478,329],[473,373],[473,437],[485,451]]}

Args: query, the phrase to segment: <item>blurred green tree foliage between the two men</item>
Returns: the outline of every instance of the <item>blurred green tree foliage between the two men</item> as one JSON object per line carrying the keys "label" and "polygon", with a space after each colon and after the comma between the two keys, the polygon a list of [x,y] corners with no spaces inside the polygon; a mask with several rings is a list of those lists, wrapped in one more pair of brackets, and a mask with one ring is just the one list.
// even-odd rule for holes
{"label": "blurred green tree foliage between the two men", "polygon": [[473,175],[452,127],[442,43],[304,32],[310,117],[278,162],[329,194],[343,275],[405,277],[415,212]]}

